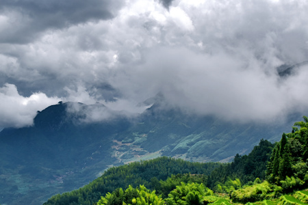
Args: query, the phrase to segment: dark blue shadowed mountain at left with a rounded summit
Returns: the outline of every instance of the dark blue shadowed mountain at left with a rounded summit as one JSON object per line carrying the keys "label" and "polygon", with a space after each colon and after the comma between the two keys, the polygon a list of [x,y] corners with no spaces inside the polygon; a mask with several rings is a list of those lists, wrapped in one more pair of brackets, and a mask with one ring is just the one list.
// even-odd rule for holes
{"label": "dark blue shadowed mountain at left with a rounded summit", "polygon": [[[79,111],[68,113],[77,106]],[[130,122],[81,123],[83,110],[102,105],[73,102],[39,112],[34,126],[0,133],[0,204],[42,204],[54,193],[77,189],[112,165],[112,136]],[[116,114],[116,113],[115,113]]]}

